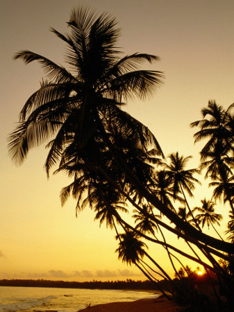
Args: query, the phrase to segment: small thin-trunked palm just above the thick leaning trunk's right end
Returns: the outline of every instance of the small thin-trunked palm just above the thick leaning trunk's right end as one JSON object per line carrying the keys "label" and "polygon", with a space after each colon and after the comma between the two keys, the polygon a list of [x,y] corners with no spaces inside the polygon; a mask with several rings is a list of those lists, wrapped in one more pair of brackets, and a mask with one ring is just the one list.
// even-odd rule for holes
{"label": "small thin-trunked palm just above the thick leaning trunk's right end", "polygon": [[[199,212],[196,218],[201,221],[202,227],[204,227],[204,225],[206,224],[208,226],[208,229],[210,225],[213,229],[215,229],[214,223],[220,225],[219,221],[221,221],[223,218],[221,214],[215,214],[215,202],[212,202],[211,200],[206,200],[206,198],[204,198],[203,200],[201,200],[201,204],[201,207],[194,207],[192,211]],[[222,239],[222,237],[219,235],[219,232],[217,232],[217,229],[215,229],[215,232],[218,234],[220,239]]]}

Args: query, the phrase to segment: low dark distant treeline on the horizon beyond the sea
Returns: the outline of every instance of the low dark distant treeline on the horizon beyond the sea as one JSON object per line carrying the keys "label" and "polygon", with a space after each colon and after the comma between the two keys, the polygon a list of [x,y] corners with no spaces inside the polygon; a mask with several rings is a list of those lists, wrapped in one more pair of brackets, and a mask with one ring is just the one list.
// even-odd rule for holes
{"label": "low dark distant treeline on the horizon beyond the sea", "polygon": [[1,279],[0,286],[90,288],[90,289],[142,289],[153,290],[151,281],[50,281],[47,279]]}

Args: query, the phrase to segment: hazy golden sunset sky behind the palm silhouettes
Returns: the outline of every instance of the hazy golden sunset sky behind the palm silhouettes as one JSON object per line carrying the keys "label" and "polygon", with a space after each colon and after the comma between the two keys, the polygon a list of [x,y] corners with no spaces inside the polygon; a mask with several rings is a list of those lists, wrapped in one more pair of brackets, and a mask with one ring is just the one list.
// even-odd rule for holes
{"label": "hazy golden sunset sky behind the palm silhouettes", "polygon": [[[195,168],[203,144],[194,145],[196,130],[190,123],[201,119],[201,108],[209,100],[225,108],[234,101],[234,2],[0,0],[0,4],[0,279],[144,279],[137,268],[117,259],[115,232],[106,225],[100,228],[93,211],[85,209],[75,218],[72,199],[61,207],[60,189],[69,180],[65,175],[47,180],[43,168],[47,150],[31,150],[19,167],[11,162],[6,138],[44,77],[39,64],[25,66],[13,55],[28,49],[63,64],[65,46],[50,27],[67,33],[69,14],[79,5],[115,16],[122,28],[118,42],[122,51],[160,56],[147,68],[165,73],[164,84],[152,98],[135,99],[124,109],[149,127],[166,156],[177,150],[193,155],[189,166]],[[192,207],[210,196],[206,183],[194,195]],[[218,204],[217,211],[227,220],[228,207]],[[210,234],[215,235],[211,230]],[[156,247],[149,250],[172,274],[165,253]]]}

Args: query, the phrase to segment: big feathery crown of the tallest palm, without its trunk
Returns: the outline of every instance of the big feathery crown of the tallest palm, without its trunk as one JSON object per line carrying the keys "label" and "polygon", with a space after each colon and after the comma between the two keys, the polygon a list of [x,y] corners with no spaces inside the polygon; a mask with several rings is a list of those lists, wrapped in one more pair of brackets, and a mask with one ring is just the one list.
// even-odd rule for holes
{"label": "big feathery crown of the tallest palm, without its trunk", "polygon": [[154,144],[161,154],[147,127],[120,109],[127,98],[145,99],[161,84],[160,71],[139,69],[142,62],[159,58],[145,53],[120,58],[116,48],[119,28],[115,18],[106,13],[97,17],[79,7],[72,10],[68,26],[69,35],[54,28],[51,31],[67,44],[65,61],[69,70],[31,51],[15,55],[26,64],[39,62],[47,80],[42,81],[19,114],[19,123],[9,137],[12,159],[21,164],[30,148],[53,139],[45,164],[49,172],[67,145],[76,141],[76,148],[83,148],[94,136],[95,141],[100,141],[100,128],[108,137],[114,125],[117,132],[121,129],[122,137],[131,134],[145,150],[148,144]]}

